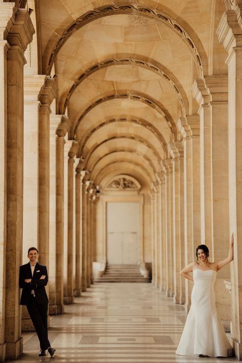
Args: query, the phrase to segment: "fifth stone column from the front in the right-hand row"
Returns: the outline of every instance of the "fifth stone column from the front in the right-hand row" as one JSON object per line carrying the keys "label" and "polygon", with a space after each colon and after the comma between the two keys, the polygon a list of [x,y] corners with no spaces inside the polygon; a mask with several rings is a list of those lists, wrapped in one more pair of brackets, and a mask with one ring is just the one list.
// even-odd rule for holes
{"label": "fifth stone column from the front in the right-hand row", "polygon": [[165,256],[166,256],[166,296],[172,297],[174,293],[173,283],[173,165],[172,159],[163,160],[166,173],[166,240],[165,240]]}

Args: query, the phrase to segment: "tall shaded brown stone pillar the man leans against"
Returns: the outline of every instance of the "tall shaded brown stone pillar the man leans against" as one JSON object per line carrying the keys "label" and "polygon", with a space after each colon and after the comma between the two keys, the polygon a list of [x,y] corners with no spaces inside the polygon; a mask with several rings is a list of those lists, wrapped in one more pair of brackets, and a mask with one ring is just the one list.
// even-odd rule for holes
{"label": "tall shaded brown stone pillar the man leans against", "polygon": [[18,276],[22,261],[23,65],[25,50],[34,34],[28,11],[14,8],[13,12],[15,16],[6,29],[7,104],[4,102],[7,106],[6,359],[17,359],[22,352]]}

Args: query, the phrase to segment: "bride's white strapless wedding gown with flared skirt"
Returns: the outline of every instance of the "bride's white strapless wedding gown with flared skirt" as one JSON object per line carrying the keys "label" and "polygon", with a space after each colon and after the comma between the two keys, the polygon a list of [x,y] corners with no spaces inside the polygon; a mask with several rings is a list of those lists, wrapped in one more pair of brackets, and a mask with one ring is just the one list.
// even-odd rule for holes
{"label": "bride's white strapless wedding gown with flared skirt", "polygon": [[214,282],[216,271],[194,270],[191,307],[178,345],[180,355],[227,357],[232,347],[217,315]]}

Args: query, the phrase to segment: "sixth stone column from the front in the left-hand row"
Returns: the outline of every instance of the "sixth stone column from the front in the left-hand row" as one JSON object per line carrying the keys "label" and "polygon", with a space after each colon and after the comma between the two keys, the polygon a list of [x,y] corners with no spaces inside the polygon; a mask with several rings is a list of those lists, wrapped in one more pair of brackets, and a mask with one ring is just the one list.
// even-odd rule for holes
{"label": "sixth stone column from the front in the left-hand row", "polygon": [[81,171],[82,176],[82,291],[87,289],[87,226],[86,226],[86,181],[89,179],[90,172]]}

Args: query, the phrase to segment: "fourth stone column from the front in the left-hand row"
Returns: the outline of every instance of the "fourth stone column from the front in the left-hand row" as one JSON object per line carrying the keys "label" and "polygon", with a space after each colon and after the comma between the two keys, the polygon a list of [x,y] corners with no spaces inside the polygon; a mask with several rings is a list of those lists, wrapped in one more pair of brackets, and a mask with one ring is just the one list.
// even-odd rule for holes
{"label": "fourth stone column from the front in the left-hand row", "polygon": [[74,302],[74,255],[73,255],[73,226],[74,226],[74,157],[78,151],[78,142],[73,141],[68,153],[68,237],[67,237],[67,296],[66,304]]}

